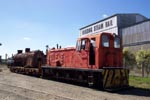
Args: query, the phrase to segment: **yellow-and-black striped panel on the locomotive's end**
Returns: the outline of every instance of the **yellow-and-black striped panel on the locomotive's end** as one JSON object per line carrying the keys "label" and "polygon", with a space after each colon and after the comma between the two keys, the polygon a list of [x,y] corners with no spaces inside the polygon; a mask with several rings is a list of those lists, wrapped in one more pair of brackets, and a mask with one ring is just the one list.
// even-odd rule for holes
{"label": "yellow-and-black striped panel on the locomotive's end", "polygon": [[103,71],[103,87],[118,88],[128,86],[128,69],[106,69]]}

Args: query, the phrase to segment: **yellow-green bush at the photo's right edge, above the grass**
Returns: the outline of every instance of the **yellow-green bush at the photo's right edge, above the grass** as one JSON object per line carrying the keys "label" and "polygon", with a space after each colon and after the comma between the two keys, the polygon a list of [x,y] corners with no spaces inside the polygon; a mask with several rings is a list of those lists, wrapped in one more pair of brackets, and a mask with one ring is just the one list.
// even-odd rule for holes
{"label": "yellow-green bush at the photo's right edge, above the grass", "polygon": [[144,72],[146,71],[147,75],[150,73],[150,50],[144,51],[140,50],[136,54],[136,62],[138,67],[142,68],[142,76],[144,77]]}

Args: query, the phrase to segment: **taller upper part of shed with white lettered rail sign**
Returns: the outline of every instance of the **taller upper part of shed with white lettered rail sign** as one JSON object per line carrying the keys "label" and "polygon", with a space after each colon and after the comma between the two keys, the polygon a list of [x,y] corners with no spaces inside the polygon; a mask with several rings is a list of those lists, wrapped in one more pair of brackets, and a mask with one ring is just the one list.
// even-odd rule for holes
{"label": "taller upper part of shed with white lettered rail sign", "polygon": [[98,22],[92,23],[80,29],[80,36],[110,32],[121,35],[121,29],[135,23],[146,20],[140,14],[115,14]]}

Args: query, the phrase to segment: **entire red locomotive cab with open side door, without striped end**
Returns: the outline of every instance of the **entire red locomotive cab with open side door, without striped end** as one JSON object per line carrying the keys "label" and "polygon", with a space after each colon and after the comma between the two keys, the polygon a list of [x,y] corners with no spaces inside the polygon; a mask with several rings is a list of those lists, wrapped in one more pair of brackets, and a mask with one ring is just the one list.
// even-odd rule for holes
{"label": "entire red locomotive cab with open side door, without striped end", "polygon": [[88,66],[92,69],[122,67],[122,45],[119,36],[101,33],[81,37],[77,40],[76,51],[86,52]]}

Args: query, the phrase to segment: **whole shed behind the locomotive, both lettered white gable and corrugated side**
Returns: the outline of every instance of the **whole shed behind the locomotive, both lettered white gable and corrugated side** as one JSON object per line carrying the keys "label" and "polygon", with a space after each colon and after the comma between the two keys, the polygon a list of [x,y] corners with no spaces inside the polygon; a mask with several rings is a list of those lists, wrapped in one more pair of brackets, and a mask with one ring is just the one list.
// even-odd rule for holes
{"label": "whole shed behind the locomotive, both lettered white gable and corrugated side", "polygon": [[[80,36],[99,34],[102,32],[115,33],[122,37],[124,47],[150,49],[150,19],[137,13],[115,14],[80,29]],[[147,46],[146,45],[146,46]],[[136,47],[137,46],[137,47]]]}

